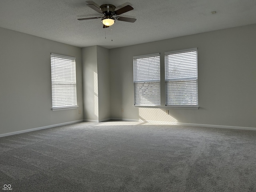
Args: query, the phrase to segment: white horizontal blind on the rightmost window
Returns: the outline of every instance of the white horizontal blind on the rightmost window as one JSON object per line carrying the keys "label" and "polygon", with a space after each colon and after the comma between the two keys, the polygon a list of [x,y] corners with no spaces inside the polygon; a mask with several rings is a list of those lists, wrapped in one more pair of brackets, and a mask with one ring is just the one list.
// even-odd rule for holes
{"label": "white horizontal blind on the rightmost window", "polygon": [[197,49],[165,53],[166,105],[198,106]]}

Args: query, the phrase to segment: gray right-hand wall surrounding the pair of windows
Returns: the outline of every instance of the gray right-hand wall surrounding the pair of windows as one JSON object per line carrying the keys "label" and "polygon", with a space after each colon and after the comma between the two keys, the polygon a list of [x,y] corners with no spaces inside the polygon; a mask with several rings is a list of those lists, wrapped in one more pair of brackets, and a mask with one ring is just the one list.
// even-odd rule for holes
{"label": "gray right-hand wall surrounding the pair of windows", "polygon": [[[111,117],[256,127],[256,25],[206,32],[110,50]],[[198,48],[198,110],[134,108],[133,56]],[[124,112],[121,109],[124,109]]]}

